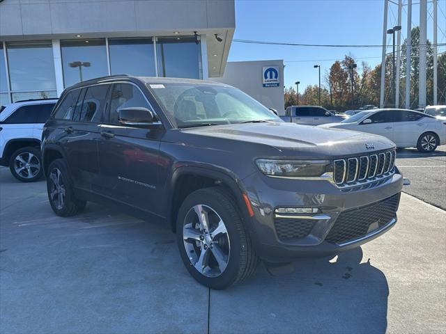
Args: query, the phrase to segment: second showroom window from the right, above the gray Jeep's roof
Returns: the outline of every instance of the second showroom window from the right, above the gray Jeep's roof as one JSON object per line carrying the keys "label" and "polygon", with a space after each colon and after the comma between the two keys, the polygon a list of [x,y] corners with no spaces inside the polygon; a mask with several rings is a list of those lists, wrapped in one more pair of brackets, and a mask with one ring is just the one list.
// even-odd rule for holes
{"label": "second showroom window from the right, above the gray Jeep's roof", "polygon": [[109,56],[112,74],[155,77],[152,38],[110,38]]}

